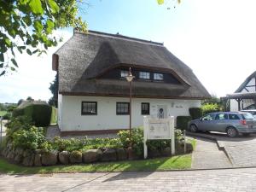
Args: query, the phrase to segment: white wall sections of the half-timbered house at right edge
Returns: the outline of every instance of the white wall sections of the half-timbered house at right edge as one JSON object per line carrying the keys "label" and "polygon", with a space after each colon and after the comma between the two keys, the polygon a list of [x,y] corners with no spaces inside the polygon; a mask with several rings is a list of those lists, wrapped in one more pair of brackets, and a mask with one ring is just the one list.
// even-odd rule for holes
{"label": "white wall sections of the half-timbered house at right edge", "polygon": [[[255,78],[252,78],[245,87],[241,90],[241,93],[255,93]],[[241,102],[241,109],[247,108],[250,105],[253,105],[254,102],[252,99],[243,99]],[[230,99],[230,111],[238,111],[238,102],[235,99]]]}

